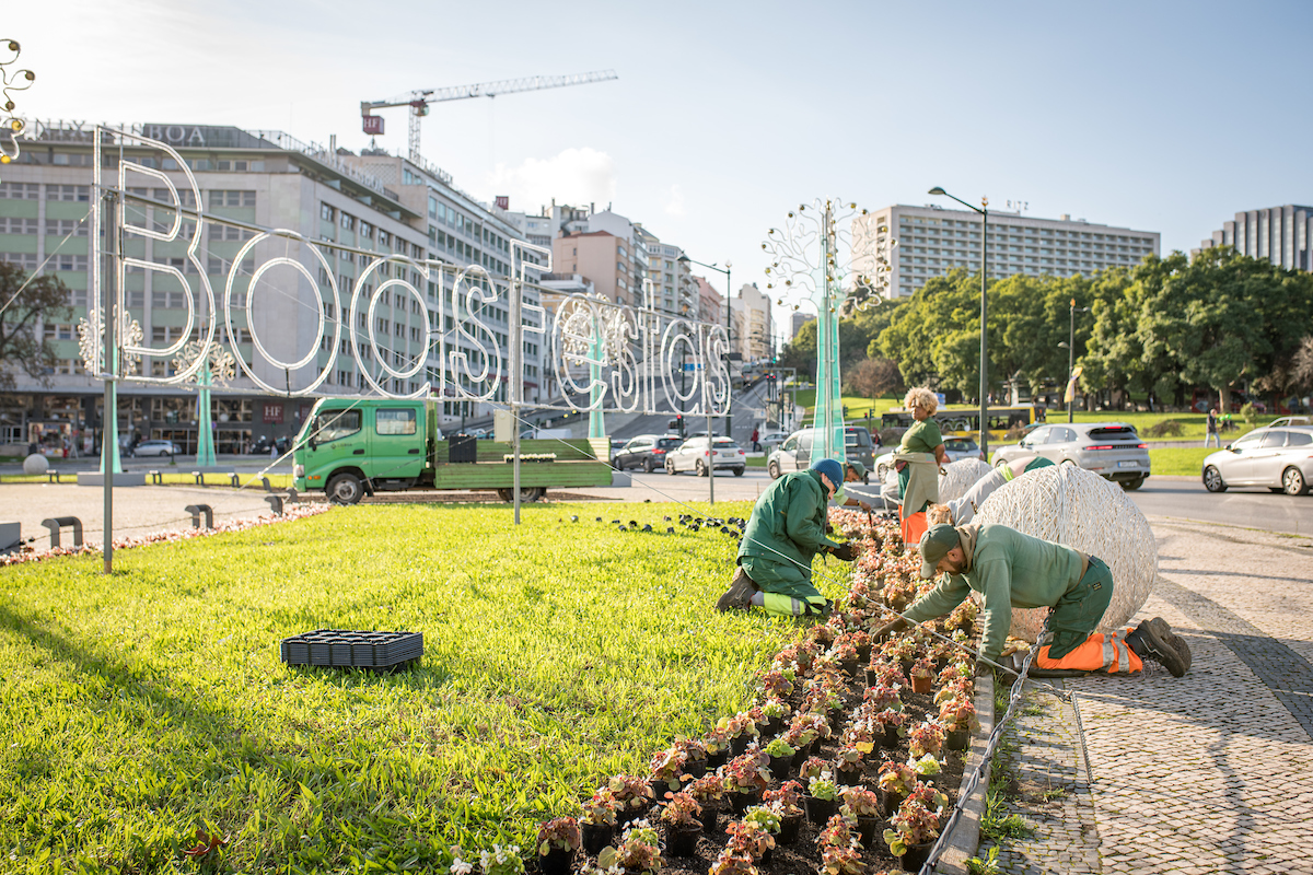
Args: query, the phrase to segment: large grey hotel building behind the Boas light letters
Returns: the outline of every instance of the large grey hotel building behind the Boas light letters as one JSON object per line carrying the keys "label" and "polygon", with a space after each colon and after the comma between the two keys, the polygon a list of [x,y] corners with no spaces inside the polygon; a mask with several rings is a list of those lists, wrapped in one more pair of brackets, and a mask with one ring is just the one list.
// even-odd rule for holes
{"label": "large grey hotel building behind the Boas light letters", "polygon": [[[385,277],[403,275],[399,265],[395,273],[372,266],[376,258],[368,253],[432,258],[453,268],[478,264],[491,274],[504,274],[511,264],[511,240],[523,239],[511,223],[457,189],[440,169],[423,161],[416,164],[382,152],[356,156],[345,150],[302,143],[281,131],[196,125],[138,125],[133,130],[169,143],[186,161],[202,190],[202,203],[184,199],[184,207],[198,207],[234,222],[209,222],[200,252],[201,265],[219,300],[230,274],[235,277],[235,298],[240,300],[251,272],[269,257],[293,257],[303,266],[302,279],[291,273],[280,277],[274,283],[276,293],[263,295],[257,307],[252,304],[249,320],[246,316],[248,311],[242,307],[235,317],[236,346],[231,352],[251,363],[268,384],[303,386],[327,367],[332,353],[331,325],[345,320],[345,307],[357,277],[376,270],[378,279],[364,286],[368,295],[377,283],[386,282]],[[87,447],[102,415],[102,386],[83,371],[76,333],[79,319],[87,315],[88,272],[93,268],[89,264],[88,220],[93,202],[93,131],[80,123],[37,122],[29,129],[29,136],[20,160],[5,167],[4,181],[0,182],[0,258],[20,264],[26,270],[37,270],[45,264],[46,272],[54,273],[70,287],[72,308],[67,320],[42,327],[58,357],[58,366],[47,375],[46,383],[17,375],[14,390],[0,395],[0,426],[4,429],[0,442],[25,445],[33,434],[45,434],[56,441],[76,438],[75,443]],[[127,147],[122,161],[161,172],[180,190],[186,190],[181,168],[163,155],[152,148]],[[118,151],[106,153],[105,160],[110,168],[118,167]],[[147,178],[139,173],[134,176]],[[133,192],[155,201],[168,201],[167,189],[138,188]],[[163,228],[172,223],[173,215],[169,210],[130,203],[129,219]],[[255,237],[255,232],[243,224],[288,228],[306,240],[340,244],[343,248],[319,247],[330,258],[326,266],[310,247],[298,249],[290,241],[265,240],[234,265],[239,251]],[[293,252],[295,254],[289,254]],[[131,236],[127,254],[184,273],[200,273],[185,257],[186,247],[181,241]],[[457,329],[463,316],[452,311],[450,294],[444,294],[450,291],[456,273],[454,269],[436,272],[425,282],[418,273],[410,272],[404,278],[427,295],[423,306],[407,294],[385,291],[379,294],[379,306],[370,316],[360,314],[361,320],[372,317],[373,321],[349,328],[357,340],[370,332],[382,338],[379,349],[393,357],[394,366],[414,361],[428,350],[428,371],[435,374],[439,362],[429,346],[433,333],[444,335],[448,349],[478,359],[478,345]],[[270,273],[265,278],[273,275]],[[343,312],[337,312],[326,298],[330,278],[340,290]],[[125,283],[129,315],[142,325],[146,344],[163,348],[179,340],[186,321],[181,285],[167,273],[142,269],[130,270]],[[318,306],[315,298],[319,299]],[[502,298],[479,317],[491,325],[504,362],[509,332],[508,307]],[[527,299],[534,303],[530,296]],[[319,335],[320,306],[330,325],[330,333],[323,337]],[[365,374],[347,348],[349,333],[344,333],[334,367],[318,390],[320,394],[368,391]],[[280,370],[253,354],[256,337],[267,349],[277,350],[284,361],[299,359],[314,350],[315,342],[319,350],[305,367]],[[481,338],[484,344],[488,340]],[[368,346],[362,349],[362,358],[364,370],[390,391],[418,391],[423,382],[419,378],[408,382],[389,378]],[[537,400],[541,391],[541,358],[540,344],[527,342],[527,400]],[[152,376],[173,373],[172,361],[161,357],[146,357],[140,369]],[[449,399],[442,408],[448,422],[490,412],[484,409],[487,404],[457,400],[450,387],[441,390]],[[499,397],[504,394],[506,380]],[[261,436],[293,434],[311,403],[312,399],[270,395],[239,375],[213,394],[217,450],[240,451]],[[177,386],[127,382],[119,388],[118,404],[121,434],[172,439],[186,451],[194,451],[194,392]]]}

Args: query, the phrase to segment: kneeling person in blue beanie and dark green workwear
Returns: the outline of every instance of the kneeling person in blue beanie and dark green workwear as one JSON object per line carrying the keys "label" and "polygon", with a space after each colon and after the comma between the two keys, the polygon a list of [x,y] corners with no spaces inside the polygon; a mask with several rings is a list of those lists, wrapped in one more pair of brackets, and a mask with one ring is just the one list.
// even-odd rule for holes
{"label": "kneeling person in blue beanie and dark green workwear", "polygon": [[764,607],[784,617],[829,617],[834,605],[811,585],[811,559],[832,554],[856,559],[853,544],[826,538],[826,505],[843,483],[834,459],[813,462],[775,480],[762,493],[743,530],[730,588],[716,610]]}

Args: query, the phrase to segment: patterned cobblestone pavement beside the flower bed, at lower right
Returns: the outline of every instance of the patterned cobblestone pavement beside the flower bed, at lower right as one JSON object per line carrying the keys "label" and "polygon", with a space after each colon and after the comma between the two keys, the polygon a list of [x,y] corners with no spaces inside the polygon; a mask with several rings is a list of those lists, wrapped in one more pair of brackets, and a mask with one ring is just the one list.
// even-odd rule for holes
{"label": "patterned cobblestone pavement beside the flower bed, at lower right", "polygon": [[1150,523],[1161,577],[1134,622],[1163,617],[1194,666],[1057,681],[1075,707],[1028,694],[1001,813],[1033,836],[999,867],[1313,874],[1313,538]]}

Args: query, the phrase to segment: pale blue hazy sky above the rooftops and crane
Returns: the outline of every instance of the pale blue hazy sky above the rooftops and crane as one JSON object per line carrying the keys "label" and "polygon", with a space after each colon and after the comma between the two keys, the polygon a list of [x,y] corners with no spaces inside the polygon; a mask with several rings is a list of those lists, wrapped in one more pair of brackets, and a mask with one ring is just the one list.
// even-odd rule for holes
{"label": "pale blue hazy sky above the rooftops and crane", "polygon": [[[1190,251],[1313,203],[1313,3],[11,4],[26,118],[235,125],[358,150],[360,101],[534,75],[616,81],[436,104],[423,153],[512,210],[595,203],[764,289],[762,241],[838,197],[939,185]],[[378,144],[406,150],[406,110]],[[705,272],[723,290],[723,278]],[[789,308],[792,310],[792,307]]]}

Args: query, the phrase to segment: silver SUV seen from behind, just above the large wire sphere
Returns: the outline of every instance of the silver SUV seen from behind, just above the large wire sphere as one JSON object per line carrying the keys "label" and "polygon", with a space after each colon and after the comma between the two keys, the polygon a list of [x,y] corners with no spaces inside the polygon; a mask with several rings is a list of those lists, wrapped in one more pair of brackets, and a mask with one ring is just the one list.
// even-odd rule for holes
{"label": "silver SUV seen from behind, just above the large wire sphere", "polygon": [[1041,425],[1020,443],[1001,447],[993,464],[997,468],[1031,454],[1053,464],[1078,464],[1128,491],[1138,489],[1149,478],[1149,445],[1125,422]]}

